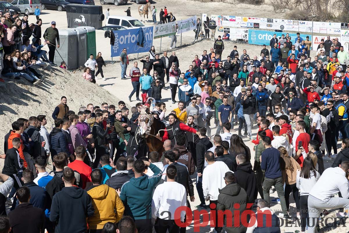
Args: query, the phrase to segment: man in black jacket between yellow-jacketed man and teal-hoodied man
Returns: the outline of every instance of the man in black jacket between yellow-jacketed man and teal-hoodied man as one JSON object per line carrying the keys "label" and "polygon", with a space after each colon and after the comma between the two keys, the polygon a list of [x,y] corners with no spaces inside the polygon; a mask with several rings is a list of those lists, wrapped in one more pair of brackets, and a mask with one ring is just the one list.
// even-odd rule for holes
{"label": "man in black jacket between yellow-jacketed man and teal-hoodied man", "polygon": [[113,173],[105,184],[115,190],[118,190],[121,189],[122,185],[129,181],[132,176],[128,174],[127,161],[124,158],[118,159],[115,166],[117,172]]}

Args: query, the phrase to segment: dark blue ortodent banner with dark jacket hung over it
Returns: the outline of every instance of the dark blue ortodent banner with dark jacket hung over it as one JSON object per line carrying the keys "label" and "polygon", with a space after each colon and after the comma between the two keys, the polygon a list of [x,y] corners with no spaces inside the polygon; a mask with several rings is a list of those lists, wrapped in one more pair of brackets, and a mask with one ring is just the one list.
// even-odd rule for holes
{"label": "dark blue ortodent banner with dark jacket hung over it", "polygon": [[[140,29],[143,30],[143,47],[137,45],[137,41],[140,38]],[[115,42],[114,45],[111,46],[111,57],[120,56],[120,53],[124,48],[127,49],[127,54],[148,52],[153,45],[153,30],[154,27],[144,27],[113,31]]]}

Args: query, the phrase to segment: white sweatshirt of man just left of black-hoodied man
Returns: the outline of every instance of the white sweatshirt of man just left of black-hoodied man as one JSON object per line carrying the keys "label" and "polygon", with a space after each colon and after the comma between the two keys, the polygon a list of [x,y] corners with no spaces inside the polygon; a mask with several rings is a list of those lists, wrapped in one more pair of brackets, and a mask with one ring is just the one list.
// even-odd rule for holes
{"label": "white sweatshirt of man just left of black-hoodied man", "polygon": [[222,189],[226,185],[223,179],[226,172],[230,172],[230,170],[222,161],[216,161],[203,170],[202,189],[205,199],[209,196],[211,201],[218,200],[218,189]]}

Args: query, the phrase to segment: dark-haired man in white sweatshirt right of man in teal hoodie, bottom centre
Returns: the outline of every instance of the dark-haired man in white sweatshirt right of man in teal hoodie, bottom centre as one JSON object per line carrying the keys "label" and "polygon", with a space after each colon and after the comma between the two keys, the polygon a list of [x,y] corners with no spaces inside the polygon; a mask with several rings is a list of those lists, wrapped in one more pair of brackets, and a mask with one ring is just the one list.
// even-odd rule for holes
{"label": "dark-haired man in white sweatshirt right of man in teal hoodie, bottom centre", "polygon": [[156,232],[179,232],[179,226],[175,220],[180,218],[184,222],[185,210],[180,212],[180,216],[174,214],[177,208],[187,206],[187,193],[185,187],[174,181],[177,175],[177,168],[170,165],[167,168],[167,181],[159,184],[151,201],[151,213],[155,219]]}

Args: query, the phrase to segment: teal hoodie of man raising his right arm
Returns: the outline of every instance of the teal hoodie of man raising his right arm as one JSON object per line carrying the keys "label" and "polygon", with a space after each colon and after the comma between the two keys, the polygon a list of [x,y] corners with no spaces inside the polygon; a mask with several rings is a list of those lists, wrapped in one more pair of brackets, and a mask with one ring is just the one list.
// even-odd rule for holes
{"label": "teal hoodie of man raising his right arm", "polygon": [[120,199],[125,205],[125,215],[134,219],[151,219],[151,198],[157,183],[161,180],[162,171],[153,163],[149,168],[153,176],[147,175],[135,178],[124,183],[121,187]]}

